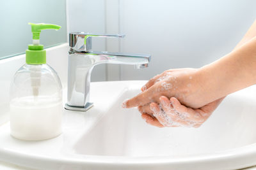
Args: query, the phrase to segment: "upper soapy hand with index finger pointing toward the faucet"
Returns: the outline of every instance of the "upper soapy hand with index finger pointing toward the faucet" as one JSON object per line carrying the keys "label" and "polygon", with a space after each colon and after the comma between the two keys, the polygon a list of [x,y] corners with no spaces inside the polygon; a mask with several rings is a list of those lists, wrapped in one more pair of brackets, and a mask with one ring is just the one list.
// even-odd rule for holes
{"label": "upper soapy hand with index finger pointing toward the faucet", "polygon": [[[200,77],[199,69],[170,69],[154,76],[142,88],[138,96],[123,103],[123,108],[143,106],[148,103],[160,103],[159,97],[175,97],[180,103],[191,108],[200,108],[211,101],[205,96],[204,80]],[[207,87],[206,87],[207,88]]]}

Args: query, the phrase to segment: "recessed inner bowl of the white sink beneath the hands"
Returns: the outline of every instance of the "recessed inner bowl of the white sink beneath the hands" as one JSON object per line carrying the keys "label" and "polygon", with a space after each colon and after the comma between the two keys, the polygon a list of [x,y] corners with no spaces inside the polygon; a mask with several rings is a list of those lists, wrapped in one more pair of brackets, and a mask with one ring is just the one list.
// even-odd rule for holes
{"label": "recessed inner bowl of the white sink beneath the hands", "polygon": [[124,92],[92,131],[74,146],[76,153],[118,157],[193,157],[239,148],[256,142],[255,103],[227,97],[202,127],[158,128],[145,123],[138,110],[122,101],[140,93]]}

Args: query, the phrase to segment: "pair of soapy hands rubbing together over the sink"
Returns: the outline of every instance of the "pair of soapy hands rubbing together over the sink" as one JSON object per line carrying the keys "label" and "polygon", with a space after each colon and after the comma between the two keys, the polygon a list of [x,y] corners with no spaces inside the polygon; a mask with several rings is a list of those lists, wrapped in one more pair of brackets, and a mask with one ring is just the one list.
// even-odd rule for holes
{"label": "pair of soapy hands rubbing together over the sink", "polygon": [[123,108],[138,106],[141,117],[156,127],[200,127],[224,98],[205,103],[202,85],[199,69],[170,69],[150,79]]}

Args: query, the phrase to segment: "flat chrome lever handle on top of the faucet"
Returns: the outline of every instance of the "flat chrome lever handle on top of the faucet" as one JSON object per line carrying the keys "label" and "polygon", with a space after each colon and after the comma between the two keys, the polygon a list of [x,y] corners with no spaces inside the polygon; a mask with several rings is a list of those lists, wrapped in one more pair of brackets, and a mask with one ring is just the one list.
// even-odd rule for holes
{"label": "flat chrome lever handle on top of the faucet", "polygon": [[90,34],[84,32],[70,32],[69,46],[76,51],[88,52],[92,50],[92,37],[124,38],[125,34]]}

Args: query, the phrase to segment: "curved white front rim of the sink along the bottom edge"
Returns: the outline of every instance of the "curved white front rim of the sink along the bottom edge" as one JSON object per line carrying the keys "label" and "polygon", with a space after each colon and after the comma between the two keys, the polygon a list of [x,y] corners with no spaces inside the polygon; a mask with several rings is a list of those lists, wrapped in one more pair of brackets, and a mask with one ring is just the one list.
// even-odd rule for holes
{"label": "curved white front rim of the sink along the bottom edge", "polygon": [[[63,150],[62,150],[63,151]],[[256,154],[256,143],[252,145],[242,146],[232,150],[225,150],[216,153],[204,153],[195,154],[182,157],[173,156],[157,156],[157,157],[116,157],[116,156],[100,156],[100,155],[81,155],[75,153],[67,153],[66,157],[45,157],[33,154],[24,154],[19,152],[14,152],[12,150],[5,150],[0,148],[0,160],[10,163],[22,162],[22,160],[35,161],[35,162],[47,162],[49,164],[111,164],[113,166],[118,165],[148,165],[148,164],[196,164],[197,162],[212,163],[212,162],[225,162],[228,159],[240,160],[241,158],[247,158],[246,160],[253,159]],[[12,160],[10,161],[10,157]],[[18,159],[18,161],[17,161]],[[21,160],[21,161],[20,161]],[[246,162],[246,161],[243,161]],[[250,166],[256,164],[256,162],[250,162]],[[242,164],[240,164],[244,167]],[[248,167],[248,166],[247,166]]]}

